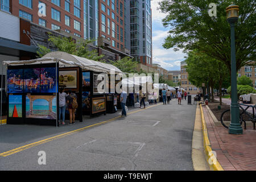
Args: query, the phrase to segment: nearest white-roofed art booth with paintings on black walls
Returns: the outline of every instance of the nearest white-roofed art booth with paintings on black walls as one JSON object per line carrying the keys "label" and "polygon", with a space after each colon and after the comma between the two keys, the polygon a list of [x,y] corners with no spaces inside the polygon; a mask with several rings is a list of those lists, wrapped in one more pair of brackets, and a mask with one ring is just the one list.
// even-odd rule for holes
{"label": "nearest white-roofed art booth with paintings on black walls", "polygon": [[82,122],[82,115],[105,114],[106,96],[98,92],[98,85],[110,69],[121,73],[113,65],[59,51],[39,59],[3,63],[7,64],[7,124],[59,126],[60,87],[77,95],[76,120]]}

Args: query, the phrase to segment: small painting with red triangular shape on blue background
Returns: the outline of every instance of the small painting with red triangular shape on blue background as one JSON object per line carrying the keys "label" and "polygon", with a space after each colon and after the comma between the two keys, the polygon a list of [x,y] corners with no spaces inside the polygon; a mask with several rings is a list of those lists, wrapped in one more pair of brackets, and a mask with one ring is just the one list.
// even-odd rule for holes
{"label": "small painting with red triangular shape on blue background", "polygon": [[22,118],[22,95],[9,95],[9,117]]}

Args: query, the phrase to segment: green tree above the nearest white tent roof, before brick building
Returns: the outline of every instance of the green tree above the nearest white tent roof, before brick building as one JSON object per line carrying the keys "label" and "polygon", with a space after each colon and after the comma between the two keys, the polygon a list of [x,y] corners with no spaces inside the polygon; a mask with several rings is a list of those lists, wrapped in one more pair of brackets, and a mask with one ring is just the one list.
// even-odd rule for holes
{"label": "green tree above the nearest white tent roof, before brick building", "polygon": [[[79,57],[85,57],[86,59],[100,61],[102,57],[104,57],[104,55],[98,55],[96,50],[89,51],[88,44],[92,43],[93,40],[80,39],[78,42],[75,42],[71,37],[67,38],[49,35],[48,42],[53,44],[58,51],[67,52]],[[42,57],[49,52],[51,52],[51,50],[42,45],[40,45],[38,51],[36,51],[39,57]]]}

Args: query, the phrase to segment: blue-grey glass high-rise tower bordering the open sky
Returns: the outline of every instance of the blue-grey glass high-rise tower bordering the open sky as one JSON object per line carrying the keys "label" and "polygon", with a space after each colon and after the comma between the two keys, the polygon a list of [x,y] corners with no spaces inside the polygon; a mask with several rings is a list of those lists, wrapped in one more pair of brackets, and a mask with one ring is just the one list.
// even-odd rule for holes
{"label": "blue-grey glass high-rise tower bordering the open sky", "polygon": [[125,0],[125,45],[141,64],[152,65],[152,15],[150,0]]}

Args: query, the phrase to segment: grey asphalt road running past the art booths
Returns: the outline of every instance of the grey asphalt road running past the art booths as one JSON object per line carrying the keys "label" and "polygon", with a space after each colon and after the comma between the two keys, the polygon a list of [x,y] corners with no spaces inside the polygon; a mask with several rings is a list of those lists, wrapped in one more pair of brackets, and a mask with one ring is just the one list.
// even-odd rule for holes
{"label": "grey asphalt road running past the art booths", "polygon": [[[0,156],[2,170],[193,170],[191,143],[195,105],[182,101],[157,105],[89,127],[9,156]],[[52,126],[0,126],[0,153],[67,133],[117,116],[86,118],[82,123]],[[38,164],[39,151],[46,165]]]}

